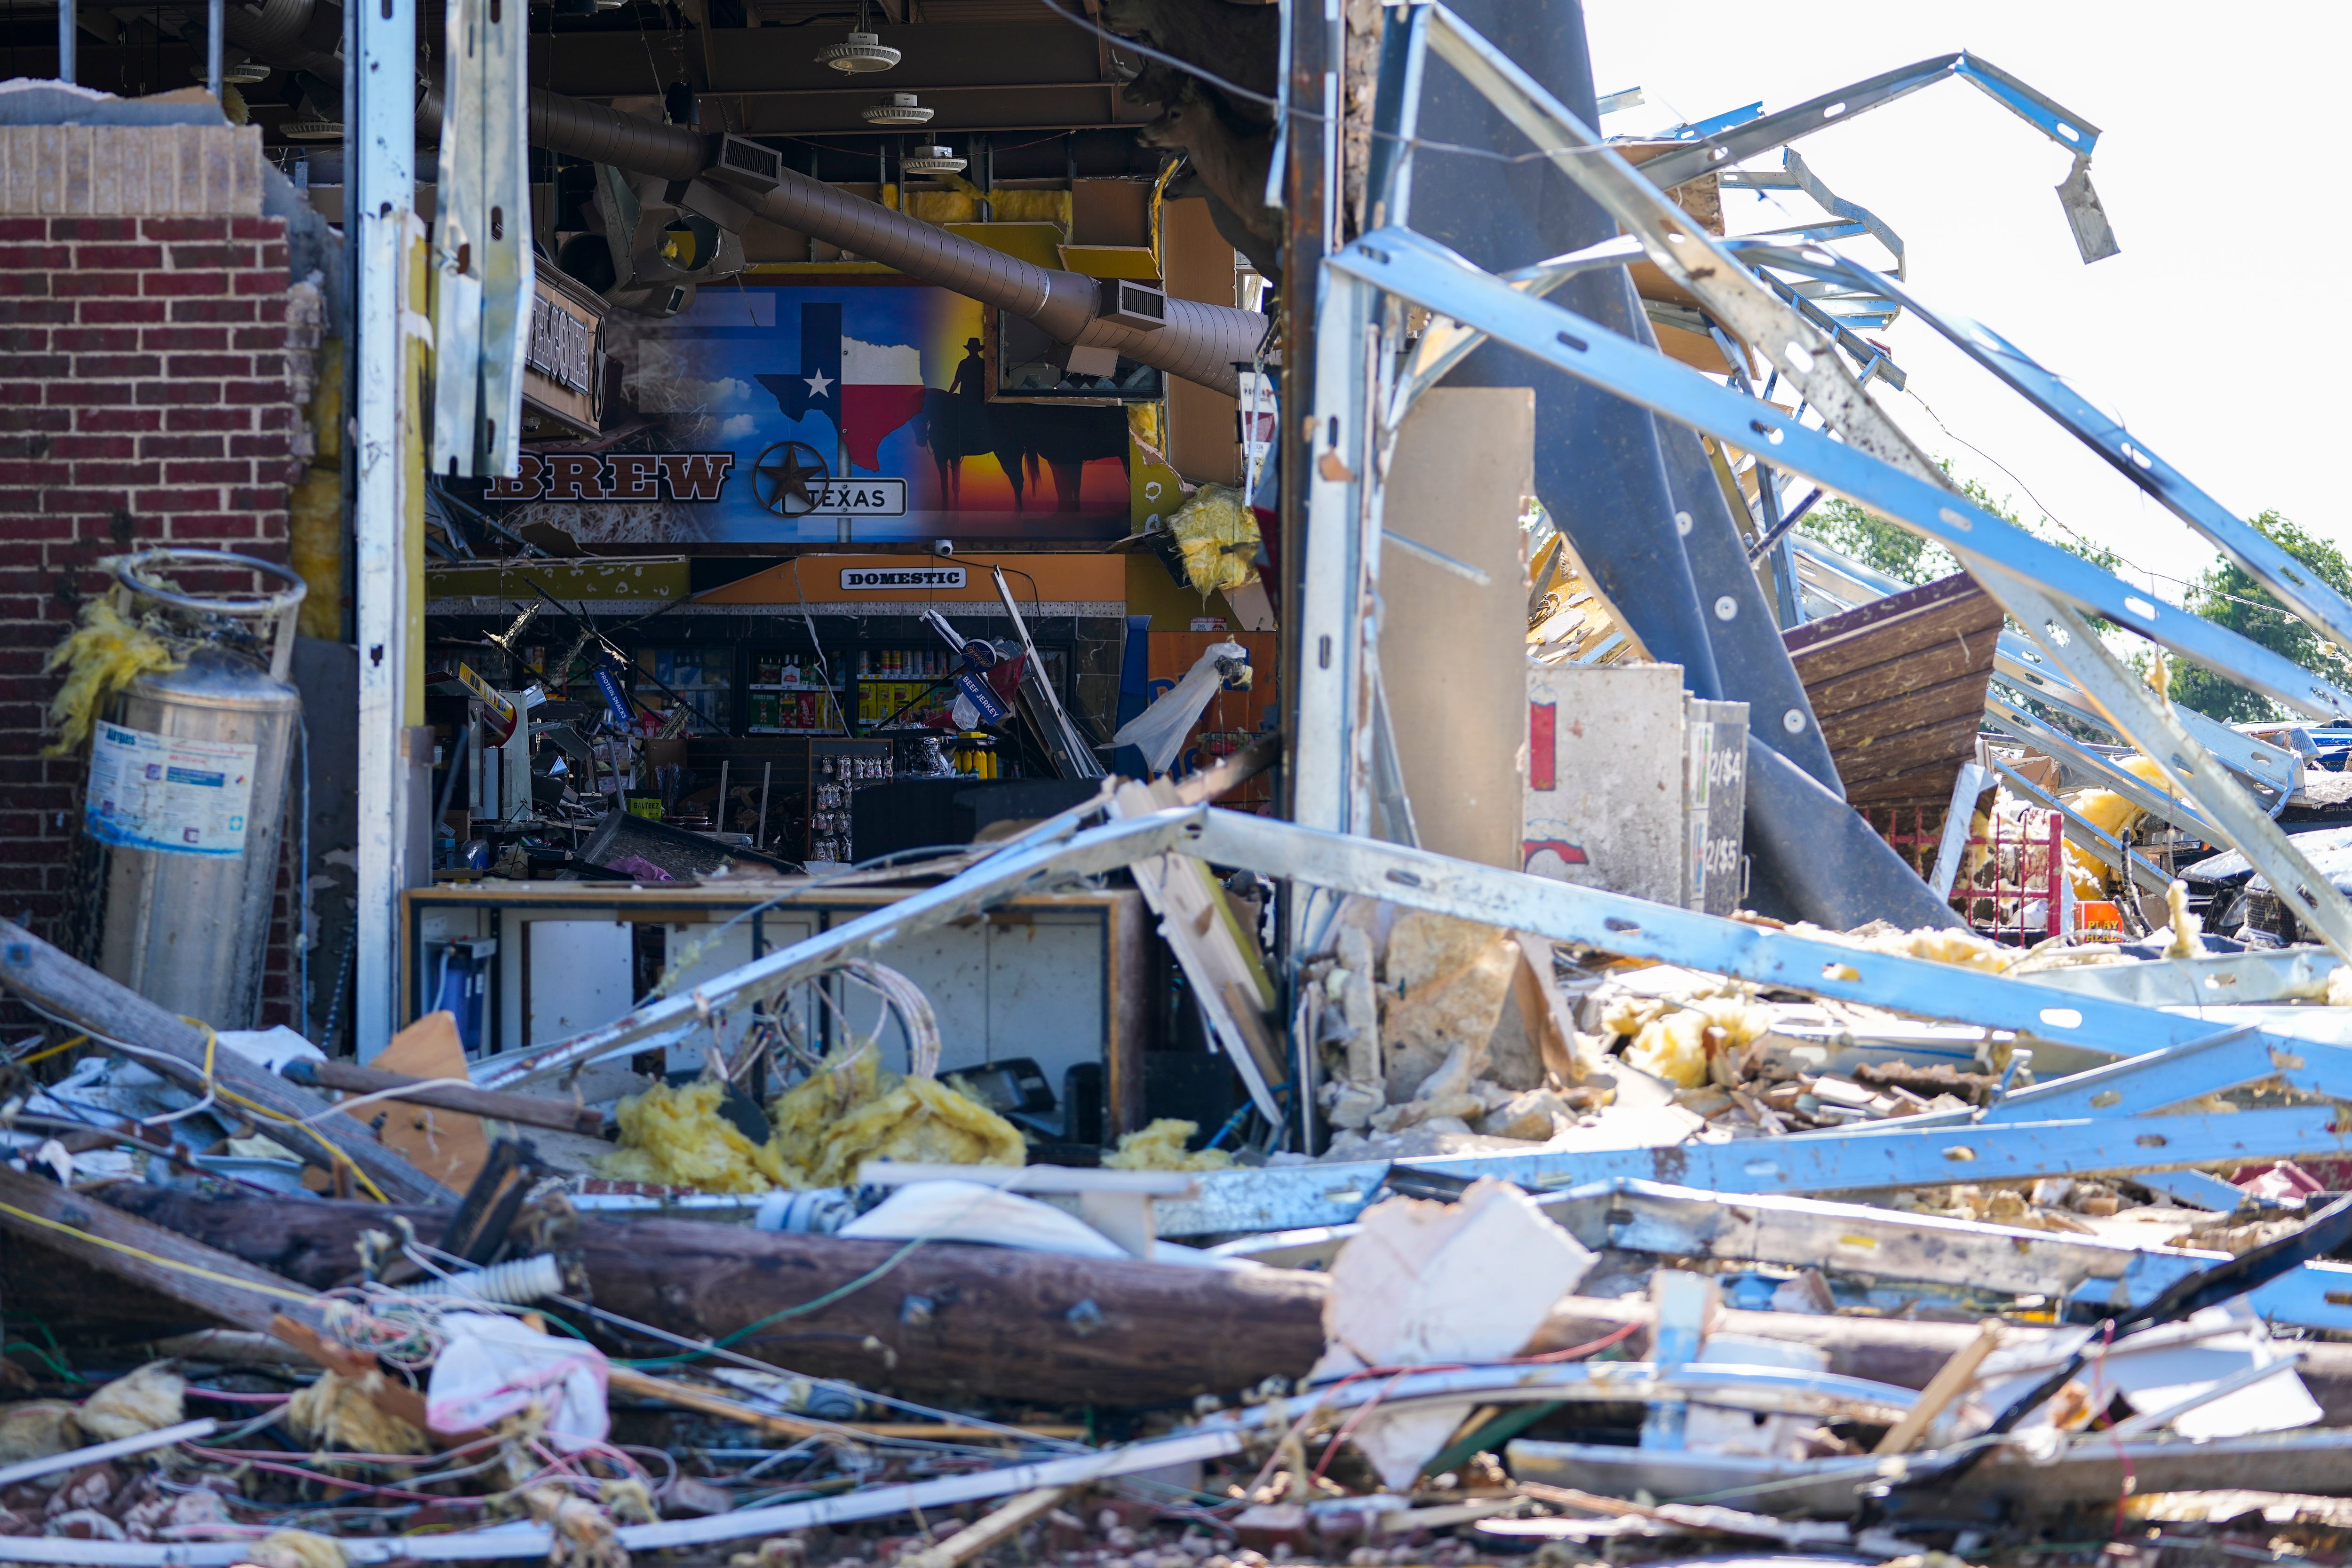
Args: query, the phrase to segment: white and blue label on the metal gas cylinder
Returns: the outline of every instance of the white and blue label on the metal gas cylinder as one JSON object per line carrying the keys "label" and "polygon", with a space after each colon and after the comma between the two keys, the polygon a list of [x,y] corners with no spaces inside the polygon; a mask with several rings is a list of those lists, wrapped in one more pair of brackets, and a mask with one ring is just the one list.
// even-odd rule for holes
{"label": "white and blue label on the metal gas cylinder", "polygon": [[256,745],[99,724],[82,825],[103,844],[174,856],[245,853]]}

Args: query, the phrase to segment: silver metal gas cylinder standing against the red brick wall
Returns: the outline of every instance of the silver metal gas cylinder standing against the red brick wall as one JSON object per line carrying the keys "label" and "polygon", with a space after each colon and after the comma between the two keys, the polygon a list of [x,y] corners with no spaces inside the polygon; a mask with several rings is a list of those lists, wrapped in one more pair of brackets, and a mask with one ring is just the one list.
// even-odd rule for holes
{"label": "silver metal gas cylinder standing against the red brick wall", "polygon": [[[287,588],[181,592],[169,569],[249,569]],[[303,583],[228,550],[115,562],[115,607],[160,618],[186,661],[146,672],[92,726],[82,835],[99,907],[92,961],[148,1001],[216,1030],[254,1025],[278,891],[278,832],[301,693],[287,679]]]}

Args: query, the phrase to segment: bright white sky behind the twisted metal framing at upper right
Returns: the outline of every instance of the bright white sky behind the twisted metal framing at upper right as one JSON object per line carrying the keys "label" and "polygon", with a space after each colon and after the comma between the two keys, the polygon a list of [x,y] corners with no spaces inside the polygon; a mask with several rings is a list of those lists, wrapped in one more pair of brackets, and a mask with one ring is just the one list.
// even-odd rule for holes
{"label": "bright white sky behind the twisted metal framing at upper right", "polygon": [[[1945,80],[1797,143],[1893,228],[1922,299],[1957,308],[2065,374],[2239,517],[2277,508],[2352,548],[2352,315],[2345,202],[2326,172],[2352,12],[2180,0],[1971,0],[1757,9],[1752,0],[1585,0],[1599,92],[1646,103],[1611,134],[1764,101],[1773,113],[1952,49],[2030,82],[2100,129],[2091,179],[2122,254],[2084,266],[2053,186],[2070,155],[1969,82]],[[1778,169],[1778,153],[1748,167]],[[1813,219],[1797,193],[1724,193],[1731,233]],[[1875,242],[1846,242],[1879,263]],[[2016,496],[2169,578],[2211,545],[2020,397],[1903,317],[1884,334],[1910,393],[1882,404],[1955,473]],[[1936,428],[1931,404],[1983,458]],[[2002,473],[2006,465],[2016,480]],[[2039,505],[2025,491],[2039,496]],[[2150,583],[2178,597],[2173,581]]]}

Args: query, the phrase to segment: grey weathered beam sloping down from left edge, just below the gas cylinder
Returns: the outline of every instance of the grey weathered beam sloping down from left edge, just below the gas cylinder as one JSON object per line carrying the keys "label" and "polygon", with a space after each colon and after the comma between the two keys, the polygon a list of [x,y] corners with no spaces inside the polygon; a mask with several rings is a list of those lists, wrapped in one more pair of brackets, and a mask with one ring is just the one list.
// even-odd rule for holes
{"label": "grey weathered beam sloping down from left edge, just below the gas cylinder", "polygon": [[[214,1084],[242,1095],[268,1112],[256,1117],[256,1126],[301,1154],[306,1164],[329,1173],[336,1164],[348,1164],[395,1204],[456,1201],[454,1192],[376,1143],[362,1121],[336,1112],[325,1098],[256,1067],[235,1051],[207,1051],[209,1037],[202,1027],[162,1011],[96,969],[78,964],[9,919],[0,919],[0,985],[21,994],[38,1011],[87,1030],[101,1046],[108,1041],[136,1046],[141,1067],[165,1074],[195,1095]],[[212,1058],[212,1084],[205,1079],[207,1056]],[[285,1117],[285,1121],[275,1117]]]}

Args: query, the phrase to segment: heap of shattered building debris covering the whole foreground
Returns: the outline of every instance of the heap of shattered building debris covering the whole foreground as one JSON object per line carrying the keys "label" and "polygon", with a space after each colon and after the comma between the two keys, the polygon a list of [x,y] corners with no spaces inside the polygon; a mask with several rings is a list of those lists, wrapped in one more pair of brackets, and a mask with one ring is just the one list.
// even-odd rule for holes
{"label": "heap of shattered building debris covering the whole foreground", "polygon": [[[1000,856],[1279,860],[1265,835],[1178,806]],[[898,1077],[851,1039],[767,1107],[713,1051],[614,1105],[602,1157],[492,1138],[463,1194],[369,1145],[372,1201],[348,1147],[89,1044],[143,1004],[0,933],[0,978],[89,1037],[9,1070],[0,1554],[1992,1561],[2089,1516],[2352,1544],[2331,964],[2169,957],[2176,898],[2140,947],[1691,914],[1710,971],[1656,957],[1689,933],[1578,940],[1642,905],[1566,884],[1512,926],[1381,898],[1442,863],[1378,853],[1303,966],[1312,1159],[1164,1119],[1023,1164],[934,1051]],[[313,1103],[266,1037],[214,1048]],[[329,1197],[254,1182],[263,1152]]]}

